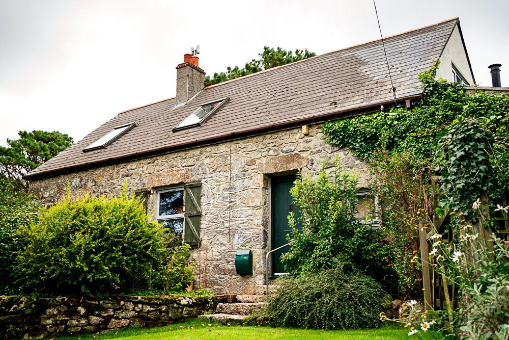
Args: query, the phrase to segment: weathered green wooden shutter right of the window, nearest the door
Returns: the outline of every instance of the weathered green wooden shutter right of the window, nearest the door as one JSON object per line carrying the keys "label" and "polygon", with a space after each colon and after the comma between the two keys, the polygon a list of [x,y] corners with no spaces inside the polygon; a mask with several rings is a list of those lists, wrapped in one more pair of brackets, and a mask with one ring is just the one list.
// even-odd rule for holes
{"label": "weathered green wooden shutter right of the window, nearest the door", "polygon": [[202,184],[184,186],[184,243],[198,245],[200,243],[200,218],[202,216]]}

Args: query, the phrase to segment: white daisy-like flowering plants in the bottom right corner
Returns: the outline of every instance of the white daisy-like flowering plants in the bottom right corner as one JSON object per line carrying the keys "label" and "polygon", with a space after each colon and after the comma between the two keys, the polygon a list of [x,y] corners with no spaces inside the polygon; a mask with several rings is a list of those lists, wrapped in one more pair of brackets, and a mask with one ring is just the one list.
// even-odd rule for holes
{"label": "white daisy-like flowering plants in the bottom right corner", "polygon": [[[472,208],[482,216],[480,199],[473,202]],[[509,206],[498,205],[496,210],[507,220]],[[458,215],[463,217],[463,213]],[[446,294],[446,310],[421,315],[418,323],[408,322],[409,317],[392,320],[411,327],[409,335],[436,325],[437,330],[451,337],[509,338],[509,242],[495,234],[490,240],[492,246],[484,242],[475,232],[477,227],[484,227],[482,221],[480,218],[480,225],[472,226],[462,219],[458,243],[444,242],[439,233],[431,236],[429,265],[436,279],[453,285],[453,296]],[[455,301],[461,307],[453,308]]]}

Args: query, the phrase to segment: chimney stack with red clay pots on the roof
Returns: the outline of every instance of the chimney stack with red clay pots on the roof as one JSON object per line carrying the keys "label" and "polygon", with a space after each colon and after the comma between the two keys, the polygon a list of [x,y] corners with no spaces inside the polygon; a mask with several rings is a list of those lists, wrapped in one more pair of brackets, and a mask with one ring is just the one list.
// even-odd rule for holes
{"label": "chimney stack with red clay pots on the roof", "polygon": [[184,62],[177,65],[177,104],[188,101],[205,88],[205,71],[198,67],[198,59],[185,54]]}

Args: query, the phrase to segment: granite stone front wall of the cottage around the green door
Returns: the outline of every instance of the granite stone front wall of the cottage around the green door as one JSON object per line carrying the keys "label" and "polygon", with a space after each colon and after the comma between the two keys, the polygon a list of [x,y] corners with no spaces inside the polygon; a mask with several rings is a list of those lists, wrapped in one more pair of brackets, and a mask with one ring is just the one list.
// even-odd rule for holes
{"label": "granite stone front wall of the cottage around the green door", "polygon": [[[197,146],[150,158],[98,167],[30,182],[32,193],[51,204],[71,195],[118,194],[151,190],[149,211],[157,188],[202,183],[201,246],[193,250],[196,284],[218,294],[252,294],[265,283],[265,254],[270,248],[270,179],[285,173],[316,172],[320,162],[337,156],[346,170],[361,176],[365,164],[347,149],[327,144],[321,125],[279,130],[259,136]],[[235,273],[235,252],[251,249],[253,275]]]}

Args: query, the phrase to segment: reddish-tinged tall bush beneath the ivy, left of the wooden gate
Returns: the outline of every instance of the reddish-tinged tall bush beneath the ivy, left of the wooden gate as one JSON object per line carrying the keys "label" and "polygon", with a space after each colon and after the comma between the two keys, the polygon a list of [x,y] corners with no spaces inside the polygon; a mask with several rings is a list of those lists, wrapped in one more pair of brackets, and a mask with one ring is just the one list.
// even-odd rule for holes
{"label": "reddish-tinged tall bush beneath the ivy, left of the wooden gate", "polygon": [[391,242],[390,255],[397,277],[397,293],[403,297],[421,295],[422,268],[413,255],[419,251],[418,224],[422,208],[431,208],[431,185],[427,176],[432,162],[410,152],[373,154],[370,188],[384,198],[382,234]]}

